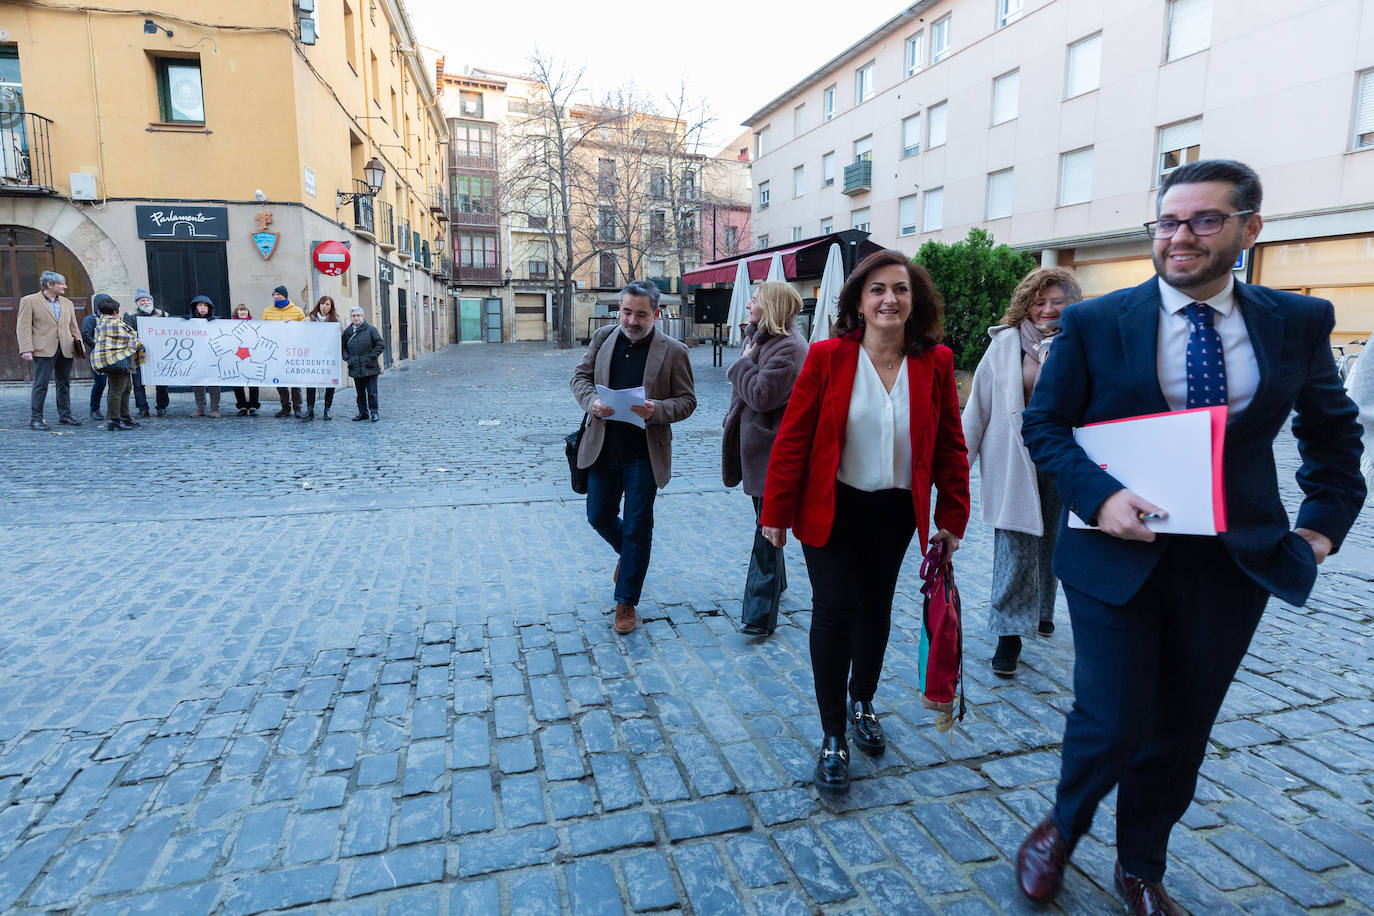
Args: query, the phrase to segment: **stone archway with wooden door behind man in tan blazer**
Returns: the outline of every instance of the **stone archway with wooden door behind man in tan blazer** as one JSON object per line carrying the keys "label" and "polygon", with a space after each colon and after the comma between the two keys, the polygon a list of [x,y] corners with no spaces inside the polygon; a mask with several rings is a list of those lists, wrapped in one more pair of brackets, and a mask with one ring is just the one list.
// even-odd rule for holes
{"label": "stone archway with wooden door behind man in tan blazer", "polygon": [[[91,313],[95,291],[131,288],[114,240],[78,207],[51,198],[0,198],[0,380],[30,376],[16,350],[15,313],[22,297],[37,293],[36,271],[41,269],[67,276],[78,321]],[[73,369],[77,376],[89,375],[84,361]]]}

